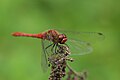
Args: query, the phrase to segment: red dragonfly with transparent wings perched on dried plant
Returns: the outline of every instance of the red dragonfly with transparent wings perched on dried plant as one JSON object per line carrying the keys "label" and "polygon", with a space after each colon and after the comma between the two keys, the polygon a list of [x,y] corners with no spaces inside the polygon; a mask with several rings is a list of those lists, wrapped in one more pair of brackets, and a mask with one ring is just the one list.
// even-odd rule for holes
{"label": "red dragonfly with transparent wings perched on dried plant", "polygon": [[[89,54],[93,51],[93,48],[89,42],[81,40],[82,36],[86,34],[88,37],[94,35],[95,38],[103,39],[104,35],[100,32],[72,32],[72,31],[63,31],[64,33],[60,33],[55,29],[50,29],[45,32],[41,32],[38,34],[29,34],[24,32],[14,32],[12,36],[15,37],[33,37],[41,39],[42,45],[42,55],[41,55],[41,67],[43,71],[47,71],[48,67],[48,57],[53,54],[57,54],[57,50],[60,45],[65,45],[69,47],[71,55],[84,55]],[[70,35],[69,37],[69,34]],[[85,35],[82,35],[85,34]],[[72,38],[71,38],[72,37]],[[75,38],[75,39],[74,39]]]}

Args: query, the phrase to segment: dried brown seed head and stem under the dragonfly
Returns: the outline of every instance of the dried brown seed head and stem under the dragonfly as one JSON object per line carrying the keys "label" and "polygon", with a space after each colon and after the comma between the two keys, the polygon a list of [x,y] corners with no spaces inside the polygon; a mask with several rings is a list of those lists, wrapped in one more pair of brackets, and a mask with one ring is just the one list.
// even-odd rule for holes
{"label": "dried brown seed head and stem under the dragonfly", "polygon": [[66,67],[69,69],[67,80],[85,80],[87,77],[86,72],[76,72],[67,61],[73,62],[72,58],[69,58],[70,51],[67,46],[59,45],[57,54],[52,55],[48,58],[51,64],[51,73],[49,80],[62,80],[66,75]]}

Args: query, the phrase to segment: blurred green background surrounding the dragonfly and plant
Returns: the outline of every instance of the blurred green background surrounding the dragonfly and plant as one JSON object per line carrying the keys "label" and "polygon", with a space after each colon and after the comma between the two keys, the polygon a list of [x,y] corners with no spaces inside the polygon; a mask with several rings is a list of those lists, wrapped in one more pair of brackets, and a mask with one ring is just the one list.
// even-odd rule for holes
{"label": "blurred green background surrounding the dragonfly and plant", "polygon": [[15,38],[12,32],[47,29],[103,32],[92,54],[76,58],[77,71],[88,80],[120,80],[119,0],[0,0],[0,80],[47,80],[40,65],[38,39]]}

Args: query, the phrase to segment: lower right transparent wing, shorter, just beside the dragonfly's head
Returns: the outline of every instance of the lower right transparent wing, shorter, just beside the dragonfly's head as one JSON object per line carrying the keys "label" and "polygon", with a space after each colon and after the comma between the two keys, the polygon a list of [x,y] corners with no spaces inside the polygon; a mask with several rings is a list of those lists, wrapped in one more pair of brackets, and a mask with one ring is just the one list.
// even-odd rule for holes
{"label": "lower right transparent wing, shorter, just beside the dragonfly's head", "polygon": [[85,55],[93,51],[90,43],[85,41],[68,40],[66,43],[69,46],[71,55]]}

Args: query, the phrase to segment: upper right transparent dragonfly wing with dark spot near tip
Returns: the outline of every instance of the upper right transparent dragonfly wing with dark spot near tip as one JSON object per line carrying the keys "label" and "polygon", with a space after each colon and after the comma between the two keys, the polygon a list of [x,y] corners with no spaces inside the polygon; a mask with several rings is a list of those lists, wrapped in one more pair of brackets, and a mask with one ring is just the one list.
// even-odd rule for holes
{"label": "upper right transparent dragonfly wing with dark spot near tip", "polygon": [[68,39],[82,40],[86,42],[95,43],[105,39],[102,32],[77,32],[77,31],[64,31],[58,30],[61,34],[65,34]]}

